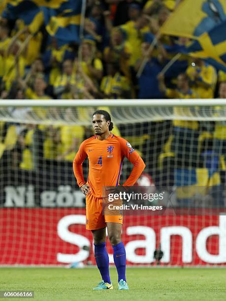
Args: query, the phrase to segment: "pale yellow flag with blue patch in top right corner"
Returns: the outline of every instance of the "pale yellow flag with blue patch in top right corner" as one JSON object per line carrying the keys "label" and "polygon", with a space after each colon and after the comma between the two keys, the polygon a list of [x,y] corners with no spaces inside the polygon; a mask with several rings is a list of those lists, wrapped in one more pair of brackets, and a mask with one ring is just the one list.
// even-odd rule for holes
{"label": "pale yellow flag with blue patch in top right corner", "polygon": [[199,37],[226,20],[226,0],[183,0],[161,27],[162,34]]}

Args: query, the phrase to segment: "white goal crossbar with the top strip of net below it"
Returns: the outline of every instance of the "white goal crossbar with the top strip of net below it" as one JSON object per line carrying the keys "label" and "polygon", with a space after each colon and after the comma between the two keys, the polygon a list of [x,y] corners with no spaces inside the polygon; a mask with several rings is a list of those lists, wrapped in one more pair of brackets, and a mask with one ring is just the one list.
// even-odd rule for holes
{"label": "white goal crossbar with the top strip of net below it", "polygon": [[[38,107],[45,114],[32,110]],[[129,120],[226,120],[226,99],[0,100],[0,120],[89,125],[90,115],[98,107],[110,108],[114,121],[121,124]],[[72,110],[69,116],[64,114],[66,108]]]}

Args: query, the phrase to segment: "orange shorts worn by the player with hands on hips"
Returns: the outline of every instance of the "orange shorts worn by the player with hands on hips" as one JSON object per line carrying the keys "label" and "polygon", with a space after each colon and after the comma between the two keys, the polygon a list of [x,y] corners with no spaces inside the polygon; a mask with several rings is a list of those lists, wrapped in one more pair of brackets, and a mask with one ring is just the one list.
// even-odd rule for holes
{"label": "orange shorts worn by the player with hands on hips", "polygon": [[[120,212],[121,213],[121,212]],[[97,230],[106,227],[106,223],[123,223],[123,215],[103,215],[102,198],[89,193],[86,196],[86,229]]]}

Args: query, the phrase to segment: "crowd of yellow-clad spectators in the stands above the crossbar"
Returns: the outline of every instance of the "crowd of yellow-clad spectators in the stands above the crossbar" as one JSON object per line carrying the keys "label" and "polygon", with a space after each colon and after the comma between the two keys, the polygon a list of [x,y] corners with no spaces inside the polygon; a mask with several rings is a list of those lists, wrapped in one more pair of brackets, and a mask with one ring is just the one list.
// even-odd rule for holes
{"label": "crowd of yellow-clad spectators in the stands above the crossbar", "polygon": [[1,99],[218,97],[226,74],[203,60],[182,55],[164,77],[160,73],[176,55],[175,46],[189,42],[159,34],[179,2],[88,0],[80,45],[59,46],[44,27],[31,34],[21,20],[1,18]]}

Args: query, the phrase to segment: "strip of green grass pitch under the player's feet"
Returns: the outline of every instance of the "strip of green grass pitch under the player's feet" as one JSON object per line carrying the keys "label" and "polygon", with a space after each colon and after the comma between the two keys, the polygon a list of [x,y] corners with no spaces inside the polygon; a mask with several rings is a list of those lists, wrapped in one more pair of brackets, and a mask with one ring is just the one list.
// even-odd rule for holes
{"label": "strip of green grass pitch under the player's feet", "polygon": [[0,290],[32,290],[41,301],[226,300],[226,269],[128,268],[129,291],[118,290],[115,268],[110,275],[113,290],[93,291],[95,268],[0,268]]}

